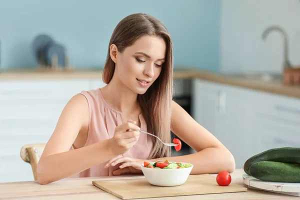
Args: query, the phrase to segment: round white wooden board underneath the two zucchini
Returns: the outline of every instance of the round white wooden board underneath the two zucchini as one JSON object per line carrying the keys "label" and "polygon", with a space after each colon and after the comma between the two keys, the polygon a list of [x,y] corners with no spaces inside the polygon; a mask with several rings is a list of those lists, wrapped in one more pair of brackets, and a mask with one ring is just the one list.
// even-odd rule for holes
{"label": "round white wooden board underneath the two zucchini", "polygon": [[243,182],[249,188],[272,191],[293,196],[300,196],[300,183],[289,182],[267,182],[254,178],[251,175],[243,174]]}

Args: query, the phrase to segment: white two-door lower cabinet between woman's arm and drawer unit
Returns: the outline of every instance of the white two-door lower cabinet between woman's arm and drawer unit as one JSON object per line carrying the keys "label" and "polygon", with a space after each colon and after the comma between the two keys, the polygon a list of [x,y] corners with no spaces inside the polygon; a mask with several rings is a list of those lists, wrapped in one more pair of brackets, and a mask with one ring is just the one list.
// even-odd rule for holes
{"label": "white two-door lower cabinet between woman's arm and drawer unit", "polygon": [[251,93],[194,79],[193,95],[195,120],[230,150],[236,167],[242,167],[244,159],[253,152]]}

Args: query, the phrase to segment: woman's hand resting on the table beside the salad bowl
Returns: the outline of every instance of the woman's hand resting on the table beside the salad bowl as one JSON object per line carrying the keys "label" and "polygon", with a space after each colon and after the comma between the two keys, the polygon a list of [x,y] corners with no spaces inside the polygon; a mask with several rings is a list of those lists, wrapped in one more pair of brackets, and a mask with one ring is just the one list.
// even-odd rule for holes
{"label": "woman's hand resting on the table beside the salad bowl", "polygon": [[138,158],[119,155],[109,160],[105,165],[105,168],[121,163],[119,169],[116,169],[112,172],[113,175],[121,175],[123,173],[142,173],[140,164],[142,164],[144,161],[148,160],[141,160]]}

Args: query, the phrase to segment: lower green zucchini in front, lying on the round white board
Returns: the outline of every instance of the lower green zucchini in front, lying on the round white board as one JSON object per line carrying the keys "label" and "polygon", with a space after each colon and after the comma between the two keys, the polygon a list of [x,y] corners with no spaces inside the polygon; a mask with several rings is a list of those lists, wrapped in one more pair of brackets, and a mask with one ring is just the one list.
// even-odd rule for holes
{"label": "lower green zucchini in front, lying on the round white board", "polygon": [[263,181],[300,182],[300,166],[276,161],[259,161],[251,164],[251,176]]}

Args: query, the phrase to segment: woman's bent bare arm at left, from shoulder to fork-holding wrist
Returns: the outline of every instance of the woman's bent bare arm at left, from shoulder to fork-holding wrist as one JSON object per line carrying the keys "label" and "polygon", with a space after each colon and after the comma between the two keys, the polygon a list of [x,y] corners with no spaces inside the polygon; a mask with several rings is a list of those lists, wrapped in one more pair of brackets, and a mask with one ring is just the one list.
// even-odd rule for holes
{"label": "woman's bent bare arm at left, from shoulder to fork-holding wrist", "polygon": [[109,139],[69,150],[80,129],[88,125],[88,120],[86,98],[82,94],[74,95],[62,110],[37,164],[37,181],[40,184],[68,177],[116,156],[110,148]]}

